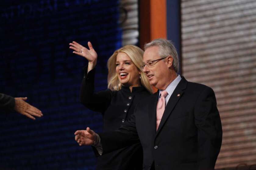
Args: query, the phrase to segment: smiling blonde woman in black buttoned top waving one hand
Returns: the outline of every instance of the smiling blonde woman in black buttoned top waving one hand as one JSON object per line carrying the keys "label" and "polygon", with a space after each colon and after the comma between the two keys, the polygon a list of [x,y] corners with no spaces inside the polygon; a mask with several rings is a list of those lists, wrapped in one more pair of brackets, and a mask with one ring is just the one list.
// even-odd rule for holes
{"label": "smiling blonde woman in black buttoned top waving one hand", "polygon": [[[74,41],[69,45],[73,53],[89,61],[80,91],[81,103],[102,113],[103,131],[116,130],[133,114],[136,104],[152,93],[148,78],[140,69],[143,50],[134,45],[116,50],[108,59],[108,89],[94,93],[96,51],[91,42],[88,42],[89,49]],[[96,169],[141,170],[142,156],[142,147],[138,141],[132,146],[99,156]]]}

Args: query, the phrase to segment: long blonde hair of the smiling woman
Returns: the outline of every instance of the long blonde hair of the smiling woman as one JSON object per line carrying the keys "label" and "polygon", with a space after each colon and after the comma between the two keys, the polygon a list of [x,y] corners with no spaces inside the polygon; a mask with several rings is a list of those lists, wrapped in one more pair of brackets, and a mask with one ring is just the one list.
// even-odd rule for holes
{"label": "long blonde hair of the smiling woman", "polygon": [[140,65],[143,63],[144,51],[134,45],[123,46],[122,48],[116,50],[108,59],[108,88],[111,90],[120,90],[122,87],[116,73],[116,56],[118,55],[118,53],[125,53],[130,57],[130,59],[140,72],[141,85],[144,86],[150,93],[152,93],[152,87],[148,81],[148,78],[145,73],[140,69]]}

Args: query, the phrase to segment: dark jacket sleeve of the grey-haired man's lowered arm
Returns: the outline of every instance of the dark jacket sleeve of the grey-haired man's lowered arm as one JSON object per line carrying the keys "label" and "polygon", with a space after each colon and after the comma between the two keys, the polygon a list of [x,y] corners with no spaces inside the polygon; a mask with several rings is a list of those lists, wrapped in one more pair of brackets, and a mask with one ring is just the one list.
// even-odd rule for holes
{"label": "dark jacket sleeve of the grey-haired man's lowered arm", "polygon": [[213,90],[206,87],[195,106],[198,169],[213,170],[222,143],[222,126]]}

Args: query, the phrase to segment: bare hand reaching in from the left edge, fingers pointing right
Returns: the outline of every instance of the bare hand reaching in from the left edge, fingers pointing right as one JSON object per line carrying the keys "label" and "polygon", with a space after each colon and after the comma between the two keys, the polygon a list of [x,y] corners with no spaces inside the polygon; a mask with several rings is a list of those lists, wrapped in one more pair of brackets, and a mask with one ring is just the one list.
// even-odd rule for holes
{"label": "bare hand reaching in from the left edge, fingers pointing right", "polygon": [[36,116],[36,117],[43,116],[42,112],[39,109],[25,102],[25,100],[27,100],[27,97],[15,97],[14,99],[15,99],[14,110],[19,112],[20,114],[23,114],[33,120],[35,120],[35,117],[33,116]]}

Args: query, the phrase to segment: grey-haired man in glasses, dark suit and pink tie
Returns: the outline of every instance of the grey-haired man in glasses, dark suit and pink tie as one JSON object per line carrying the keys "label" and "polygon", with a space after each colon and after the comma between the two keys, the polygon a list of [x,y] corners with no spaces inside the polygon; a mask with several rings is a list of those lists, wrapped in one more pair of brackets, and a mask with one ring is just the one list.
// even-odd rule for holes
{"label": "grey-haired man in glasses, dark suit and pink tie", "polygon": [[147,170],[214,169],[222,127],[213,90],[177,75],[178,55],[170,41],[155,39],[144,48],[141,68],[158,91],[118,130],[95,134],[87,127],[76,131],[76,141],[104,154],[140,140]]}

